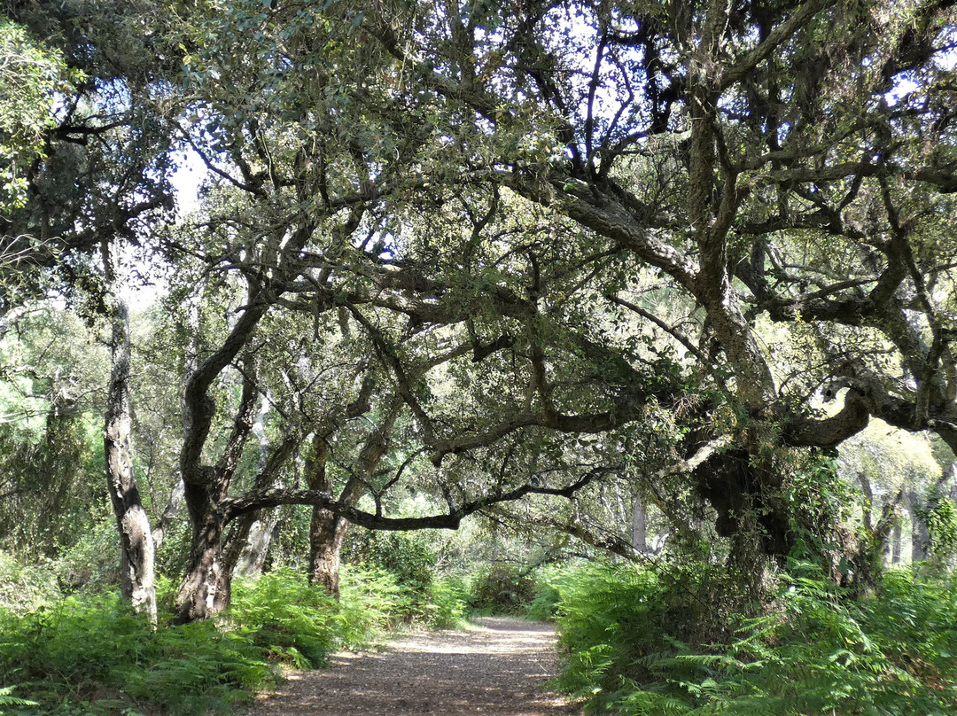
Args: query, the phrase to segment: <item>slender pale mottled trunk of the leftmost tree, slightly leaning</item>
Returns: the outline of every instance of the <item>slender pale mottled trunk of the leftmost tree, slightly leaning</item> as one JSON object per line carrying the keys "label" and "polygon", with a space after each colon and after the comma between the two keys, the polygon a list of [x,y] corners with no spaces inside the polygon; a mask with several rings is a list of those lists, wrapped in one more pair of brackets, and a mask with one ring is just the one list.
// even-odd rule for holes
{"label": "slender pale mottled trunk of the leftmost tree, slightly leaning", "polygon": [[107,285],[113,289],[110,316],[109,392],[103,427],[106,482],[113,513],[120,529],[122,594],[139,612],[156,621],[156,583],[153,534],[133,473],[132,418],[130,414],[129,307],[118,289],[117,247],[102,244]]}

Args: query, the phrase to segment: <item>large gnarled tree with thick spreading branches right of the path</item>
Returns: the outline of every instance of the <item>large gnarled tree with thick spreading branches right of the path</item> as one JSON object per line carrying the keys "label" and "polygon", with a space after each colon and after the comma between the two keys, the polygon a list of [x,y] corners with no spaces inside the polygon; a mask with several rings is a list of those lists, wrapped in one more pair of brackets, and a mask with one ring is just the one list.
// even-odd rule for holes
{"label": "large gnarled tree with thick spreading branches right of the path", "polygon": [[[723,534],[750,514],[787,553],[786,454],[871,415],[957,443],[950,3],[363,9],[451,138],[447,180],[568,216],[697,306],[684,349],[707,397],[682,457]],[[631,286],[597,281],[627,305]],[[780,380],[762,314],[796,340],[812,324],[823,365]],[[829,381],[848,387],[830,416],[812,403]]]}

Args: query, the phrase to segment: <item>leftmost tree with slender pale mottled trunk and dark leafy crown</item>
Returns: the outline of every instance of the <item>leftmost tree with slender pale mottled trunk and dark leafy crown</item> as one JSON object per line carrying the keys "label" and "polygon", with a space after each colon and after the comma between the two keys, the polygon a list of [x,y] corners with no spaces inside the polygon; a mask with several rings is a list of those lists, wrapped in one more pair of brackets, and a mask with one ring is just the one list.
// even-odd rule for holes
{"label": "leftmost tree with slender pale mottled trunk and dark leafy crown", "polygon": [[[59,64],[56,73],[47,70],[53,73],[48,82],[56,84],[45,90],[46,116],[32,139],[39,148],[23,172],[21,200],[2,207],[0,242],[19,257],[8,284],[18,281],[39,290],[53,270],[59,275],[54,285],[81,312],[91,321],[100,315],[109,321],[112,372],[103,446],[120,529],[122,587],[134,607],[155,618],[152,530],[133,473],[129,315],[122,295],[128,281],[122,257],[128,244],[149,231],[150,221],[172,209],[166,181],[171,145],[147,101],[162,73],[150,66],[156,55],[143,52],[149,40],[138,32],[148,21],[138,11],[151,6],[108,5],[93,11],[73,3],[56,9],[5,6],[61,47],[51,51]],[[137,32],[130,38],[133,27]],[[57,75],[74,79],[75,86]],[[61,93],[56,101],[54,89]],[[4,309],[12,304],[8,296]]]}

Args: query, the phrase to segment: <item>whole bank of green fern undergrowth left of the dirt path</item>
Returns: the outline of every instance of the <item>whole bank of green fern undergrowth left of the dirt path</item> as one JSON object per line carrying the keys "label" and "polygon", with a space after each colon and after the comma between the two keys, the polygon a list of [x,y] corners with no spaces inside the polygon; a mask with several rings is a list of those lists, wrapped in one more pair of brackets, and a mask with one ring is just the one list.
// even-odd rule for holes
{"label": "whole bank of green fern undergrowth left of the dirt path", "polygon": [[4,689],[0,711],[231,713],[274,685],[282,667],[321,666],[329,652],[376,638],[397,621],[400,593],[388,572],[351,570],[337,601],[280,571],[237,582],[218,623],[173,626],[161,615],[154,630],[115,595],[72,596],[26,615],[0,610],[0,685],[16,684],[17,697],[39,703],[17,705]]}

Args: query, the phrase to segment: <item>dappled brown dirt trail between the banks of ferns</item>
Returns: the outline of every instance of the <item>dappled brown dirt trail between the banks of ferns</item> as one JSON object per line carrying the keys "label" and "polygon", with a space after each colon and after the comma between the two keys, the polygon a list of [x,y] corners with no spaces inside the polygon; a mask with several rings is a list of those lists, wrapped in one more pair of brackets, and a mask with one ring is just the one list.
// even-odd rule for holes
{"label": "dappled brown dirt trail between the banks of ferns", "polygon": [[322,671],[292,676],[249,716],[579,716],[542,682],[557,668],[545,624],[479,619],[467,632],[400,638],[379,653],[337,654]]}

